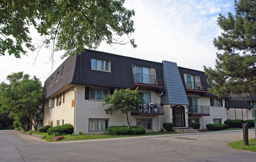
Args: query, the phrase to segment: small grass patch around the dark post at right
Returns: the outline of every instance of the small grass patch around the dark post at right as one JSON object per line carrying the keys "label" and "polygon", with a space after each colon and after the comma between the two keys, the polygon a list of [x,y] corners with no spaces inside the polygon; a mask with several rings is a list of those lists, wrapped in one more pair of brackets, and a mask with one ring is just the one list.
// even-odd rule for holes
{"label": "small grass patch around the dark post at right", "polygon": [[256,141],[255,138],[252,138],[249,140],[249,146],[245,146],[243,143],[243,140],[241,141],[236,141],[228,144],[230,147],[234,149],[243,149],[243,150],[248,150],[248,151],[254,151],[256,152]]}

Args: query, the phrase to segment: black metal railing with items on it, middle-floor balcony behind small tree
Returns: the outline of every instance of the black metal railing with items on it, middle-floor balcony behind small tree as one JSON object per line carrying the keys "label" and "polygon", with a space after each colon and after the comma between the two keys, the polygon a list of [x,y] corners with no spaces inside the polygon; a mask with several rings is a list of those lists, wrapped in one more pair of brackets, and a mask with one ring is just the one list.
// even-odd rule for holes
{"label": "black metal railing with items on it, middle-floor balcony behind small tree", "polygon": [[137,107],[132,113],[164,113],[163,104],[145,103]]}

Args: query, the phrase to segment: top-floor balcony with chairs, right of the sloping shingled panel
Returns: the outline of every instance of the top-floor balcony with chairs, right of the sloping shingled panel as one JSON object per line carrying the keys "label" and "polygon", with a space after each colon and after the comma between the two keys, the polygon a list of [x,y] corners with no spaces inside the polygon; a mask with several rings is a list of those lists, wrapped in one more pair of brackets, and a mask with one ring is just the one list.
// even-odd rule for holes
{"label": "top-floor balcony with chairs, right of the sloping shingled panel", "polygon": [[201,82],[186,82],[186,89],[187,92],[193,92],[193,93],[208,93],[208,84],[207,83],[201,83]]}

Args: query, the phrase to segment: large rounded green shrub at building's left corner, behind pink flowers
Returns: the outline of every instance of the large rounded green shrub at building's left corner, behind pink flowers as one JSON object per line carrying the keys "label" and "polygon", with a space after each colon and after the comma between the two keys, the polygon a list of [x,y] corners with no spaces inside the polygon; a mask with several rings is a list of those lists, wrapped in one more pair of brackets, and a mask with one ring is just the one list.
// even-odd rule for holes
{"label": "large rounded green shrub at building's left corner, behind pink flowers", "polygon": [[61,126],[50,127],[47,131],[48,135],[68,135],[74,132],[74,127],[71,124],[62,124]]}

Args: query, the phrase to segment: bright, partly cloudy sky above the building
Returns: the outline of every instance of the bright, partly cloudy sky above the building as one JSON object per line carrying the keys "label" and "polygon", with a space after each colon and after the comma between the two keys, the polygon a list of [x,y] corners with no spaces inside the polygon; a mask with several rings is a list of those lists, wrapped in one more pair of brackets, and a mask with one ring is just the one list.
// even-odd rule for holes
{"label": "bright, partly cloudy sky above the building", "polygon": [[[203,66],[215,66],[216,53],[213,39],[221,35],[217,25],[219,13],[234,13],[234,0],[126,0],[124,7],[134,9],[135,33],[132,35],[137,44],[110,46],[102,42],[98,51],[130,56],[143,60],[176,62],[180,67],[203,71]],[[31,29],[34,43],[40,36]],[[66,59],[60,59],[64,51],[54,53],[53,70]],[[28,52],[28,56],[15,58],[14,55],[0,56],[0,82],[7,82],[11,73],[23,71],[37,76],[44,84],[51,74],[51,52],[42,48]],[[37,59],[35,61],[35,58]]]}

